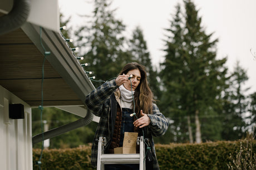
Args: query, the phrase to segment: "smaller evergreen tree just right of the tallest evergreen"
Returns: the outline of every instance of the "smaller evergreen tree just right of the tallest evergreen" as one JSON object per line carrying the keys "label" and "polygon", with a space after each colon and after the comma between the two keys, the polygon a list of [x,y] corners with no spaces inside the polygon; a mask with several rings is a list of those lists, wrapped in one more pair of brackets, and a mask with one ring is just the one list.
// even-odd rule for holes
{"label": "smaller evergreen tree just right of the tallest evergreen", "polygon": [[248,80],[246,71],[237,62],[234,72],[230,76],[230,88],[225,92],[224,121],[222,138],[224,140],[238,140],[245,136],[244,115],[247,112],[247,96],[243,89],[245,81]]}

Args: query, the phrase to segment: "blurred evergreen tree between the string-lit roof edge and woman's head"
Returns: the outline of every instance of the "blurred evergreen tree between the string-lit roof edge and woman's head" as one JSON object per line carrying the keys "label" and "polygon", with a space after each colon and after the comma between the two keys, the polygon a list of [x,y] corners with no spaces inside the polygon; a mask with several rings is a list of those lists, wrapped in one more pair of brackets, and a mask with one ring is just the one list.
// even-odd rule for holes
{"label": "blurred evergreen tree between the string-lit roof edge and woman's head", "polygon": [[[130,61],[124,53],[125,25],[114,17],[115,10],[110,9],[111,2],[95,0],[91,22],[86,22],[77,30],[78,46],[81,47],[86,69],[93,72],[97,80],[109,80],[117,76],[122,66]],[[102,83],[95,83],[99,86]]]}

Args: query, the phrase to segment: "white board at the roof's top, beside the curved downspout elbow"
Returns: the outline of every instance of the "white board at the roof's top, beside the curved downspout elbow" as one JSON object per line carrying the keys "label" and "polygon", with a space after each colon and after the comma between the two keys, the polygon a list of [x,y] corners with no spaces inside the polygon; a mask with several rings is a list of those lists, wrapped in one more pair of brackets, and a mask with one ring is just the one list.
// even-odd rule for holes
{"label": "white board at the roof's top, beside the curved downspout elbow", "polygon": [[58,0],[33,0],[27,22],[43,28],[60,31],[60,11]]}

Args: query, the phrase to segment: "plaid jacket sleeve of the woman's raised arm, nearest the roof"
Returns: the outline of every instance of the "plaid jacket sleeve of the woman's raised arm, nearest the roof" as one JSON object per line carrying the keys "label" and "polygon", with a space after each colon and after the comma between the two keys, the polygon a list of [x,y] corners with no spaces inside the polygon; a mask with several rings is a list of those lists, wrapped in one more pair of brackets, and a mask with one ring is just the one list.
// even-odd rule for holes
{"label": "plaid jacket sleeve of the woman's raised arm, nearest the roof", "polygon": [[93,90],[86,96],[85,103],[87,109],[94,115],[101,116],[104,102],[109,99],[116,89],[117,86],[115,80],[108,81],[97,87],[97,89]]}

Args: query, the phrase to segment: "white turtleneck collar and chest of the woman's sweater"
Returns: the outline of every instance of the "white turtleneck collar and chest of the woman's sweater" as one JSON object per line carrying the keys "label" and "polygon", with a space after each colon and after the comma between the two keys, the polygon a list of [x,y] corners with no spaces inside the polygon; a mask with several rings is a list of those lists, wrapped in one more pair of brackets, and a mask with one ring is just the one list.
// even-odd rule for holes
{"label": "white turtleneck collar and chest of the woman's sweater", "polygon": [[132,106],[132,94],[135,91],[131,91],[125,89],[124,85],[119,86],[120,94],[121,94],[121,107],[131,109]]}

